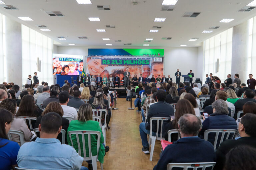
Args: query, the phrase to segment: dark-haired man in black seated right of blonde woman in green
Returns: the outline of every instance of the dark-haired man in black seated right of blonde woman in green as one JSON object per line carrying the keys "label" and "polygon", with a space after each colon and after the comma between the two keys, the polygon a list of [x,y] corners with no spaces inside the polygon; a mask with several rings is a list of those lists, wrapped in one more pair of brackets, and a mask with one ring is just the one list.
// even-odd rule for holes
{"label": "dark-haired man in black seated right of blonde woman in green", "polygon": [[243,106],[246,102],[255,102],[256,103],[254,96],[255,96],[254,91],[252,91],[251,89],[245,90],[244,95],[243,95],[244,99],[239,99],[236,101],[236,103],[234,103],[235,108],[236,108],[234,118],[236,118],[237,112],[243,110]]}

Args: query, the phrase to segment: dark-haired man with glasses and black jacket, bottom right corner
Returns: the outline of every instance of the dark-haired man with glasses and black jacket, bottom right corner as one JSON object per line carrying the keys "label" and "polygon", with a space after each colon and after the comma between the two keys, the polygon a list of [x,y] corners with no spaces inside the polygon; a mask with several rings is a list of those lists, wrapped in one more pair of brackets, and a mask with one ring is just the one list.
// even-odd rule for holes
{"label": "dark-haired man with glasses and black jacket, bottom right corner", "polygon": [[241,137],[233,140],[225,140],[220,144],[216,151],[217,161],[214,170],[223,169],[225,156],[232,148],[241,145],[248,145],[256,148],[256,115],[247,113],[241,119],[238,119],[238,122],[238,131]]}

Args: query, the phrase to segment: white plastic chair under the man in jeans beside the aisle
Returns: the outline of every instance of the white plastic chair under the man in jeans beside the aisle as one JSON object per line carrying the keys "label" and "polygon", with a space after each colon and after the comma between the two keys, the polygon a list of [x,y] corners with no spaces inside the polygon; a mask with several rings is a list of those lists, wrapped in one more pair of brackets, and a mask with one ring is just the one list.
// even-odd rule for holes
{"label": "white plastic chair under the man in jeans beside the aisle", "polygon": [[[155,142],[156,142],[156,139],[157,140],[165,140],[163,137],[162,137],[162,129],[163,129],[163,122],[165,120],[168,120],[168,119],[171,119],[171,118],[150,118],[150,133],[149,133],[149,138],[148,138],[148,144],[149,146],[151,145],[151,150],[150,150],[150,157],[149,157],[149,160],[152,161],[152,158],[153,158],[153,152],[154,152],[154,147],[155,147]],[[156,136],[153,136],[152,135],[152,121],[156,121],[156,124],[157,124],[157,127],[156,127]],[[161,121],[161,129],[160,129],[160,133],[159,132],[159,122]],[[160,137],[158,137],[160,136]]]}

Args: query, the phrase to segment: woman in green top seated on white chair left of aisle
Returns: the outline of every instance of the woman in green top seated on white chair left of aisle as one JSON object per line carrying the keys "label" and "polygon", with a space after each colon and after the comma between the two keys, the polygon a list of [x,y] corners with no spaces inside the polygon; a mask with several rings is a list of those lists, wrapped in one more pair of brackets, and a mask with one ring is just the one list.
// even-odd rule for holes
{"label": "woman in green top seated on white chair left of aisle", "polygon": [[[104,137],[103,137],[99,122],[93,121],[93,119],[92,119],[92,107],[90,104],[82,104],[80,106],[79,111],[77,113],[77,120],[71,121],[69,124],[69,127],[68,127],[68,132],[73,131],[73,130],[84,130],[84,131],[94,130],[94,131],[99,131],[101,133],[98,160],[100,163],[103,163],[103,159],[104,159],[104,155],[105,155],[105,147],[103,144]],[[71,138],[73,141],[74,148],[78,152],[76,136],[71,135]],[[70,146],[72,146],[69,135],[67,135],[67,141],[68,141],[68,144]],[[83,142],[82,142],[81,137],[79,137],[79,141],[80,141],[80,146],[81,146],[81,156],[83,157],[83,155],[84,155],[83,148],[82,148]],[[87,135],[85,135],[85,141],[88,141]],[[86,150],[88,151],[88,142],[85,142],[85,147],[86,147]],[[106,151],[108,151],[108,150],[109,150],[109,147],[106,146]],[[97,155],[97,137],[95,134],[91,134],[91,152],[92,152],[93,156]],[[89,153],[86,153],[86,156],[88,157]]]}

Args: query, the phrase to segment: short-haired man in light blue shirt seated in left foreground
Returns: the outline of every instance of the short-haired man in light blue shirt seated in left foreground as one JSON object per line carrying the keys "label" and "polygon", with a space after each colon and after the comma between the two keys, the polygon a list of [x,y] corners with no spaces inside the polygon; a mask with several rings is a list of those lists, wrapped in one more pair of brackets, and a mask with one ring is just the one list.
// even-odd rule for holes
{"label": "short-haired man in light blue shirt seated in left foreground", "polygon": [[17,162],[20,168],[87,169],[81,167],[83,158],[73,147],[61,144],[56,139],[62,128],[61,124],[61,116],[57,113],[50,112],[42,117],[38,127],[40,138],[23,144],[19,150]]}

